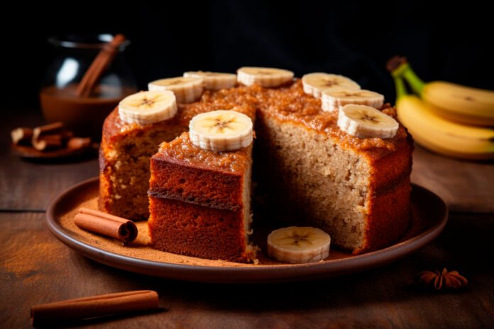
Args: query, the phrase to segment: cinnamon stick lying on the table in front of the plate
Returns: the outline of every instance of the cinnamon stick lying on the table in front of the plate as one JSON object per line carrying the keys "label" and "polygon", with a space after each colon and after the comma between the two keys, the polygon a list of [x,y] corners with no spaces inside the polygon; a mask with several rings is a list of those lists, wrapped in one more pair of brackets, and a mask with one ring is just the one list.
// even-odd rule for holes
{"label": "cinnamon stick lying on the table in front of the plate", "polygon": [[127,291],[36,305],[31,308],[31,319],[33,325],[55,325],[68,320],[82,320],[156,308],[159,308],[156,291]]}

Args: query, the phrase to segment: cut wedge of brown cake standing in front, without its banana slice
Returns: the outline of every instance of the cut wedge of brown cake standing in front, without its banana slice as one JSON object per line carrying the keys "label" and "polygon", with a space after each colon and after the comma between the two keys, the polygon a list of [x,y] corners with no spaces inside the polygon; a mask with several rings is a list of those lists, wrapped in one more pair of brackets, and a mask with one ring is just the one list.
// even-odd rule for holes
{"label": "cut wedge of brown cake standing in front, without its banana slice", "polygon": [[[253,120],[255,107],[246,114]],[[148,226],[152,245],[180,255],[253,261],[256,248],[248,239],[252,233],[252,145],[205,150],[207,145],[193,143],[193,133],[163,143],[151,157]]]}

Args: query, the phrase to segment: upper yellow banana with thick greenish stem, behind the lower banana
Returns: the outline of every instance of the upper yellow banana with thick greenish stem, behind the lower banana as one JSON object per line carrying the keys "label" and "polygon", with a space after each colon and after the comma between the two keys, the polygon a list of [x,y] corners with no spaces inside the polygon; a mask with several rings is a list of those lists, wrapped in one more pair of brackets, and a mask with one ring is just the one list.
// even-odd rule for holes
{"label": "upper yellow banana with thick greenish stem, behind the lower banana", "polygon": [[393,60],[396,65],[391,67],[393,76],[406,79],[412,89],[440,116],[459,123],[494,126],[494,91],[451,82],[424,83],[405,58]]}

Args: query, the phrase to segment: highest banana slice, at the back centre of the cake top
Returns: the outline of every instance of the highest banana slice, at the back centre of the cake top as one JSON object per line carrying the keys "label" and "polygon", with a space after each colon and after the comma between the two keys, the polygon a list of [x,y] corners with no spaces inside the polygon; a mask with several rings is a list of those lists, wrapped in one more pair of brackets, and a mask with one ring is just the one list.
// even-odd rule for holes
{"label": "highest banana slice, at the back centre of the cake top", "polygon": [[237,70],[238,82],[246,86],[278,87],[292,81],[293,75],[292,71],[273,67],[241,67]]}

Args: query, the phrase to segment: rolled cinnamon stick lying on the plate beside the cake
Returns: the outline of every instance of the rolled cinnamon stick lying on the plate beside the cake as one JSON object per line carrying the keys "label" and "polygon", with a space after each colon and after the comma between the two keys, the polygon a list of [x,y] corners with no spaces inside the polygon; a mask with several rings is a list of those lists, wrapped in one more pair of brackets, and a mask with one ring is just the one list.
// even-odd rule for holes
{"label": "rolled cinnamon stick lying on the plate beside the cake", "polygon": [[89,208],[79,208],[74,218],[75,225],[90,232],[132,242],[137,238],[137,227],[132,221]]}

